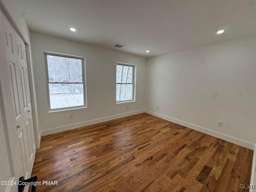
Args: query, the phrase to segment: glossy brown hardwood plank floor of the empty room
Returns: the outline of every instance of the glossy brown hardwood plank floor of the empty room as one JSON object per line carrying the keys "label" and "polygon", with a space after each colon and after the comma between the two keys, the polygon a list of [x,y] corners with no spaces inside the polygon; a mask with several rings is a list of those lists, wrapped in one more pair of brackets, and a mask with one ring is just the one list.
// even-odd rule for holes
{"label": "glossy brown hardwood plank floor of the empty room", "polygon": [[42,137],[37,192],[236,192],[253,151],[142,113]]}

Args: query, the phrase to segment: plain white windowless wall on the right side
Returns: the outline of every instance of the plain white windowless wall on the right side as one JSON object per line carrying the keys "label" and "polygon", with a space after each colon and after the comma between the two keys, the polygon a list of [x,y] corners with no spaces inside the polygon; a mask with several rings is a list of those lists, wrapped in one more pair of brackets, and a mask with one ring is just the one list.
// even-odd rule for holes
{"label": "plain white windowless wall on the right side", "polygon": [[256,35],[148,58],[146,96],[147,110],[255,144]]}

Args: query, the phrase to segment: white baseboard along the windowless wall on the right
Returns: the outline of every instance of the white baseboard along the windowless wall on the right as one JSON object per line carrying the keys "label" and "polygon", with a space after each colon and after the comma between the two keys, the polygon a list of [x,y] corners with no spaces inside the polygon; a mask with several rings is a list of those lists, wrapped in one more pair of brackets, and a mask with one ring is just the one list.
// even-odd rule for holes
{"label": "white baseboard along the windowless wall on the right", "polygon": [[165,116],[165,115],[162,115],[162,114],[150,111],[150,110],[145,110],[145,112],[150,114],[150,115],[157,116],[159,118],[162,118],[162,119],[174,122],[176,124],[179,124],[179,125],[182,125],[182,126],[185,126],[185,127],[188,127],[188,128],[194,129],[194,130],[197,130],[199,132],[202,132],[202,133],[205,133],[205,134],[217,137],[219,139],[222,139],[222,140],[225,140],[225,141],[237,144],[239,146],[242,146],[242,147],[254,150],[255,144],[253,144],[253,143],[250,143],[250,142],[238,139],[238,138],[234,138],[232,136],[228,136],[228,135],[225,135],[223,133],[216,132],[216,131],[213,131],[213,130],[210,130],[210,129],[207,129],[207,128],[203,128],[203,127],[200,127],[200,126],[188,123],[188,122],[184,122],[182,120],[174,119],[174,118],[171,118],[171,117],[168,117],[168,116]]}

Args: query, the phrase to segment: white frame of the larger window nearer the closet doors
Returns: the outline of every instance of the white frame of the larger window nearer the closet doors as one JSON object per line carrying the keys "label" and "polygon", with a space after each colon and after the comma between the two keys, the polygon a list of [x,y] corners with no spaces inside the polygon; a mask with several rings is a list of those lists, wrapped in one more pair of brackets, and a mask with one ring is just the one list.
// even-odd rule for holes
{"label": "white frame of the larger window nearer the closet doors", "polygon": [[[56,112],[56,111],[73,110],[73,109],[79,109],[79,108],[87,108],[85,58],[84,57],[80,57],[80,56],[61,54],[61,53],[55,53],[55,52],[46,52],[46,51],[44,51],[43,53],[44,53],[44,64],[45,64],[44,66],[45,66],[45,74],[46,74],[46,91],[47,91],[47,98],[48,98],[48,111],[49,112]],[[47,55],[60,56],[60,57],[74,58],[74,59],[82,60],[82,82],[49,82]],[[83,89],[84,89],[84,105],[51,109],[49,84],[83,84]]]}

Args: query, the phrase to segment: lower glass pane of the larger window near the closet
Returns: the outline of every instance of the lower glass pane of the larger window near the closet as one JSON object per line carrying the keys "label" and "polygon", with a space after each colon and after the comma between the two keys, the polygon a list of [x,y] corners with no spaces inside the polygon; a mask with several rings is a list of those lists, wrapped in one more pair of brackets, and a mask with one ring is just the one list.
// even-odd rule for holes
{"label": "lower glass pane of the larger window near the closet", "polygon": [[50,108],[84,105],[83,84],[49,84]]}

